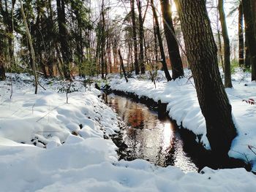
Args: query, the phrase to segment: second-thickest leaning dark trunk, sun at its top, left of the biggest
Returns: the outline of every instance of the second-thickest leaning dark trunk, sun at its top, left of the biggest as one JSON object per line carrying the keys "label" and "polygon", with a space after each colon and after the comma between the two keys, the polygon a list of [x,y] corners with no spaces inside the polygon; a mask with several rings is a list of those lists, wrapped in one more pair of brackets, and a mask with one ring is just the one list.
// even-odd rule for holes
{"label": "second-thickest leaning dark trunk, sun at its top, left of the biggest", "polygon": [[178,42],[176,41],[175,37],[169,0],[161,0],[161,9],[170,64],[173,71],[173,80],[176,80],[176,78],[184,76],[184,71],[181,55],[178,49]]}

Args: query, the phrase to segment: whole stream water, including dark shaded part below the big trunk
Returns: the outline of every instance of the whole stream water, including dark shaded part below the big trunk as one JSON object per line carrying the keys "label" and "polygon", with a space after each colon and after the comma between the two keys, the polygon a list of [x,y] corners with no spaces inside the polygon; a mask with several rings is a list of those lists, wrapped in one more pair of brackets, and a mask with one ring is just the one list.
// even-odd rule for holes
{"label": "whole stream water, including dark shaded part below the big trunk", "polygon": [[224,166],[222,162],[217,164],[192,134],[145,104],[113,93],[102,93],[102,98],[125,124],[113,138],[119,147],[118,154],[125,160],[141,158],[159,166],[178,166],[184,172],[197,172],[204,166],[213,169],[241,166],[230,162]]}

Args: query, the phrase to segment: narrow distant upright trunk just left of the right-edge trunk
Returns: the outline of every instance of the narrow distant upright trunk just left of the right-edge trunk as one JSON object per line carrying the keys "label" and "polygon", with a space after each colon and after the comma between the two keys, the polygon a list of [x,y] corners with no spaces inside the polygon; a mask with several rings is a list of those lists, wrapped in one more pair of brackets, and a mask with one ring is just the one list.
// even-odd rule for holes
{"label": "narrow distant upright trunk just left of the right-edge trunk", "polygon": [[244,15],[243,4],[240,2],[238,8],[238,39],[239,39],[239,67],[244,68]]}

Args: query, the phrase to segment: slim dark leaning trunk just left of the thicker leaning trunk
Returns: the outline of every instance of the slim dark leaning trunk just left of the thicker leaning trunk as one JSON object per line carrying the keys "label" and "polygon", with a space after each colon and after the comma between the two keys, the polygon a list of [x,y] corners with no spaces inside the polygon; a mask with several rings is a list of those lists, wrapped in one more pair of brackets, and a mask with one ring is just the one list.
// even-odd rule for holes
{"label": "slim dark leaning trunk just left of the thicker leaning trunk", "polygon": [[164,51],[164,47],[162,45],[162,37],[160,34],[159,22],[157,20],[157,11],[156,11],[156,8],[154,7],[153,0],[151,0],[151,7],[152,7],[153,17],[154,17],[154,21],[155,21],[155,25],[156,25],[155,27],[156,27],[156,31],[157,31],[157,39],[158,39],[159,49],[160,49],[160,53],[161,53],[162,67],[164,69],[165,77],[166,77],[167,81],[170,81],[170,80],[172,80],[172,77],[170,77],[170,73],[168,71],[167,64],[165,61],[165,51]]}

